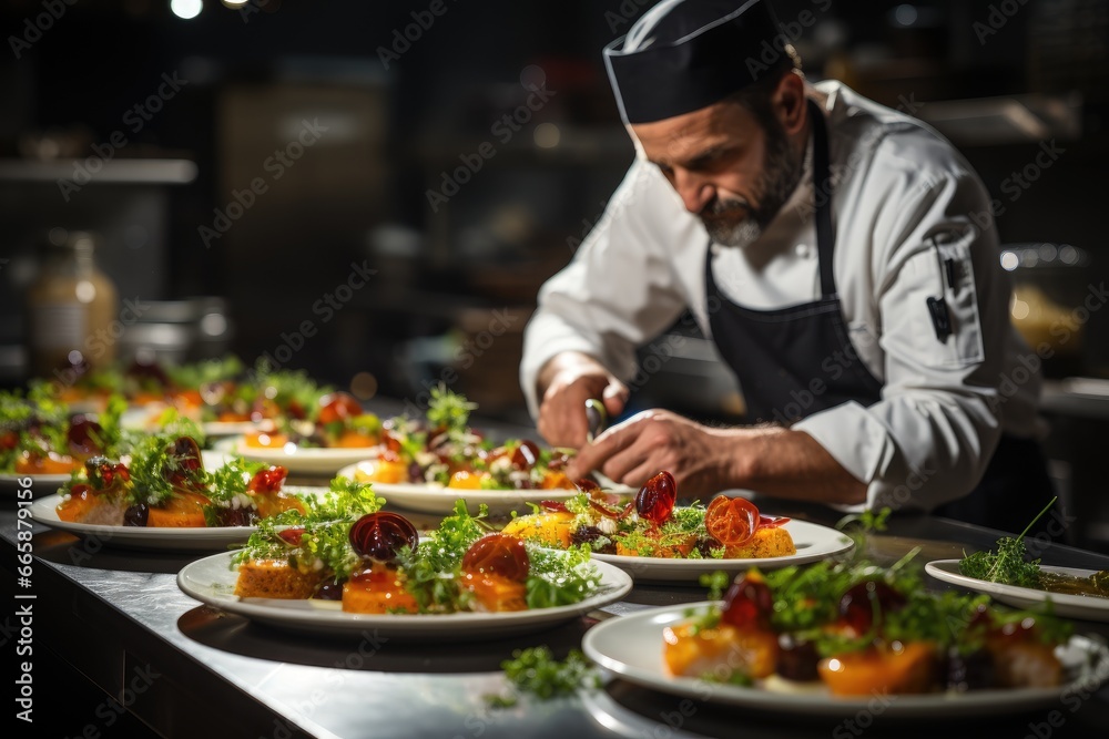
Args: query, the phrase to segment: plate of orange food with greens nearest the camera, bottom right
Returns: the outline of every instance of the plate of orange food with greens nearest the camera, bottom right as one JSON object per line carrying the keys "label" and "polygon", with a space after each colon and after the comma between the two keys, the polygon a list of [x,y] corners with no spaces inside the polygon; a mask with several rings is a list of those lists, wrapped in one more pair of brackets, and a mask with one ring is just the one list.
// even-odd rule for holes
{"label": "plate of orange food with greens nearest the camera, bottom right", "polygon": [[[998,696],[1057,698],[1076,676],[1105,673],[1105,647],[1076,640],[1071,624],[985,595],[929,592],[915,551],[881,567],[861,548],[804,569],[718,573],[709,602],[602,624],[613,633],[587,634],[586,651],[652,687],[765,708],[801,696],[820,712],[875,696],[896,696],[907,711],[936,698],[957,711],[980,695],[1015,705]],[[629,654],[629,643],[643,649],[648,638],[653,654]]]}

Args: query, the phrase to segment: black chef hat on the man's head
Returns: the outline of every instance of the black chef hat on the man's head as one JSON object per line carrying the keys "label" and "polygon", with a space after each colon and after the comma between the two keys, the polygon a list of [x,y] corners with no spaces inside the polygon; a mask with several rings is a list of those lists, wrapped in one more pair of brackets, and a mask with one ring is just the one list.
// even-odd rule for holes
{"label": "black chef hat on the man's head", "polygon": [[604,64],[624,122],[649,123],[754,83],[784,42],[763,0],[663,0],[604,48]]}

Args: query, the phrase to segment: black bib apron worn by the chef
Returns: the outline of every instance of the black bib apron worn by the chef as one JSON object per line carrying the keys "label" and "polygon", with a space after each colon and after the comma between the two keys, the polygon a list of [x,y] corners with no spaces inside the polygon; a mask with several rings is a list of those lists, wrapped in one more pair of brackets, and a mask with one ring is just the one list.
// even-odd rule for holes
{"label": "black bib apron worn by the chef", "polygon": [[[821,187],[827,188],[825,197],[816,197],[820,299],[776,310],[736,305],[716,287],[711,244],[705,255],[709,326],[721,358],[740,381],[754,422],[788,425],[849,401],[868,407],[882,397],[882,382],[851,343],[836,292],[827,126],[820,106],[811,100],[807,104],[813,121],[814,197]],[[1004,435],[979,485],[933,513],[1019,533],[1051,500],[1051,489],[1039,444]]]}

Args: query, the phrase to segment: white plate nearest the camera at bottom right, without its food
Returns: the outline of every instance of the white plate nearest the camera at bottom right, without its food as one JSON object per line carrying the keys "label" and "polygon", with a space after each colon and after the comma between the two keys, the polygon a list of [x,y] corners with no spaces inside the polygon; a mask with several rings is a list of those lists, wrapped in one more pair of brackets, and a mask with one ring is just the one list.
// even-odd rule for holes
{"label": "white plate nearest the camera at bottom right, without its food", "polygon": [[[673,677],[662,659],[662,632],[685,620],[690,608],[703,612],[708,603],[664,608],[649,608],[593,626],[582,639],[586,655],[601,667],[635,685],[662,692],[688,696],[698,700],[773,711],[777,716],[808,715],[845,718],[859,712],[875,712],[875,700],[882,700],[882,714],[902,718],[944,719],[958,716],[986,716],[1007,711],[1028,711],[1058,705],[1059,698],[1081,685],[1083,695],[1096,689],[1097,682],[1109,677],[1109,649],[1092,639],[1075,636],[1057,653],[1074,677],[1057,688],[1021,688],[1011,690],[974,690],[959,695],[898,695],[888,698],[834,697],[816,686],[805,692],[776,692],[759,687],[709,682],[699,678]],[[1070,674],[1068,673],[1068,677]],[[1095,682],[1096,680],[1096,682]]]}

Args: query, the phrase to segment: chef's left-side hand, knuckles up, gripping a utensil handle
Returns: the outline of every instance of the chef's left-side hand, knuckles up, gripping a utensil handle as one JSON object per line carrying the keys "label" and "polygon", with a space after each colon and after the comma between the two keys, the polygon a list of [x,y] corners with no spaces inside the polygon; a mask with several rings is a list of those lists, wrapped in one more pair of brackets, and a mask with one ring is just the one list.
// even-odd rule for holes
{"label": "chef's left-side hand, knuckles up, gripping a utensil handle", "polygon": [[589,423],[586,401],[604,403],[609,418],[623,411],[628,388],[588,355],[566,351],[539,372],[539,419],[536,428],[551,447],[578,449],[586,443]]}

